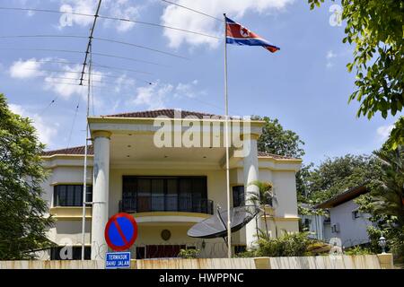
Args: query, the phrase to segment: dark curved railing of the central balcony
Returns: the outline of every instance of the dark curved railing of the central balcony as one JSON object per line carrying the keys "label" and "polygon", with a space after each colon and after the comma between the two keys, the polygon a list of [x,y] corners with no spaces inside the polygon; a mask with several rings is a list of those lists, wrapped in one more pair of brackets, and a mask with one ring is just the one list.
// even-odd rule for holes
{"label": "dark curved railing of the central balcony", "polygon": [[184,212],[213,214],[213,201],[183,196],[137,196],[119,201],[119,212]]}

